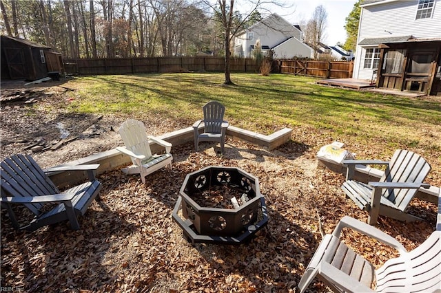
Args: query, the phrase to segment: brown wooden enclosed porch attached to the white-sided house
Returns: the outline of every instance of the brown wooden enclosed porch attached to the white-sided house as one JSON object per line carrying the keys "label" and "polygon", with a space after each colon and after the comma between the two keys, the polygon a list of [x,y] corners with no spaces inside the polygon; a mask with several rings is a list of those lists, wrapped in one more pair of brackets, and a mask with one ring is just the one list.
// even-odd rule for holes
{"label": "brown wooden enclosed porch attached to the white-sided house", "polygon": [[441,40],[383,43],[376,87],[441,96]]}

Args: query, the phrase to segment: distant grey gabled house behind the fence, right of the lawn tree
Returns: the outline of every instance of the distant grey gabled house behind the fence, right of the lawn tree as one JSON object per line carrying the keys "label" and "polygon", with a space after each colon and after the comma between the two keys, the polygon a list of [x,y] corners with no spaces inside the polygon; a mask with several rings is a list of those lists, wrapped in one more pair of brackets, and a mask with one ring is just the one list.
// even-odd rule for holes
{"label": "distant grey gabled house behind the fence, right of the lawn tree", "polygon": [[252,56],[256,41],[260,40],[263,54],[269,50],[274,58],[312,58],[314,52],[302,41],[303,34],[298,25],[271,14],[237,34],[234,38],[234,56]]}

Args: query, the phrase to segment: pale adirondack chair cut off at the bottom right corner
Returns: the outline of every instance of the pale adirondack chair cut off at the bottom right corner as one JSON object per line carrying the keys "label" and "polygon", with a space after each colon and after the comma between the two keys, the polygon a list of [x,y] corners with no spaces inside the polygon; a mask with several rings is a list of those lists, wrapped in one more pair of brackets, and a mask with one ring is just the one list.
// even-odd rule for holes
{"label": "pale adirondack chair cut off at the bottom right corner", "polygon": [[[378,270],[340,241],[342,228],[352,228],[400,252]],[[318,277],[334,292],[440,292],[441,231],[436,230],[418,248],[407,252],[400,242],[368,224],[343,217],[331,235],[325,235],[298,283],[305,292]],[[372,290],[376,282],[375,290]]]}

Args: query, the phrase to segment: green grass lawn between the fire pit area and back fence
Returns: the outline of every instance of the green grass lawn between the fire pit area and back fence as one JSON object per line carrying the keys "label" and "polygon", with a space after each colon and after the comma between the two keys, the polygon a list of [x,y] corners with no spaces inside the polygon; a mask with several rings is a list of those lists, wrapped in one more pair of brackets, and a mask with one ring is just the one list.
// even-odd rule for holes
{"label": "green grass lawn between the fire pit area and back fence", "polygon": [[[441,99],[408,98],[314,84],[315,78],[232,74],[139,74],[74,78],[70,111],[117,113],[143,120],[160,116],[188,126],[201,107],[218,100],[230,124],[272,133],[294,129],[293,140],[312,148],[338,140],[358,158],[388,160],[396,149],[429,160],[427,180],[441,185]],[[69,94],[69,93],[68,93]]]}

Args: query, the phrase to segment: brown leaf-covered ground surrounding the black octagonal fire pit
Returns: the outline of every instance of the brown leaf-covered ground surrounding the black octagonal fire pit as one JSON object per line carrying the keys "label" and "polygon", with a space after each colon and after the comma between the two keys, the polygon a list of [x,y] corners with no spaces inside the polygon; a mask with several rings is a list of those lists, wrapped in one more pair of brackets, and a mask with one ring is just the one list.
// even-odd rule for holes
{"label": "brown leaf-covered ground surrounding the black octagonal fire pit", "polygon": [[[78,139],[56,151],[32,153],[43,168],[122,144],[115,130],[127,117],[65,113],[64,107],[57,109],[69,102],[65,89],[47,91],[55,94],[37,98],[32,108],[23,102],[1,103],[1,160],[32,153],[27,146],[42,139],[45,146],[57,143],[58,123]],[[41,107],[46,110],[39,111]],[[161,113],[145,116],[143,122],[153,135],[191,125]],[[366,212],[345,199],[340,189],[344,177],[317,167],[318,149],[334,140],[344,142],[357,158],[389,160],[378,154],[384,148],[393,153],[396,147],[380,140],[360,144],[350,135],[311,126],[294,127],[291,140],[274,151],[227,139],[225,155],[219,156],[216,144],[203,143],[196,153],[190,142],[174,146],[173,168],[149,175],[146,184],[119,169],[100,175],[101,200],[81,217],[79,231],[62,223],[16,232],[2,209],[0,285],[28,292],[294,292],[323,232],[331,232],[345,215],[367,220]],[[427,182],[441,185],[439,151],[404,142],[400,147],[421,153],[433,167]],[[174,223],[172,210],[185,175],[210,165],[237,166],[258,177],[269,221],[249,243],[192,245]],[[413,199],[409,213],[424,221],[406,224],[380,217],[378,228],[411,250],[433,231],[436,206]],[[397,255],[351,230],[342,239],[376,266]],[[315,280],[309,290],[327,288]]]}

